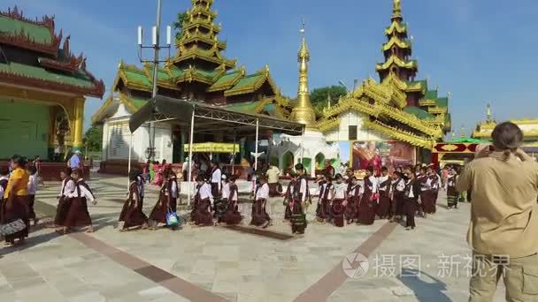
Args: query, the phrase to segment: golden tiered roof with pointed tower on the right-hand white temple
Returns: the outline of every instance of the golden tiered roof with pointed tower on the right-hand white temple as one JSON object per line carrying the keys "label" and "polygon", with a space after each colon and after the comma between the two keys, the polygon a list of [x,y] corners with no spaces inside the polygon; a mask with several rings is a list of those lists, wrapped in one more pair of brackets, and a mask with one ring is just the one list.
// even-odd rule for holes
{"label": "golden tiered roof with pointed tower on the right-hand white temple", "polygon": [[369,118],[364,127],[413,146],[431,148],[450,131],[448,97],[429,90],[427,80],[416,80],[418,62],[411,60],[411,42],[402,16],[401,3],[394,0],[391,25],[385,29],[388,42],[381,50],[385,61],[376,64],[380,83],[366,79],[355,91],[327,109],[317,127],[328,132],[340,124],[340,115],[350,109]]}

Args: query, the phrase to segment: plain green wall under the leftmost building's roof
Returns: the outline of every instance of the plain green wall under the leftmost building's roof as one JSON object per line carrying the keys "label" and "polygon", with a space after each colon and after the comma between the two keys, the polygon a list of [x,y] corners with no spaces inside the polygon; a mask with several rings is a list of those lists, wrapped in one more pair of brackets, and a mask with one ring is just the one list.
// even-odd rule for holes
{"label": "plain green wall under the leftmost building's roof", "polygon": [[50,106],[0,99],[0,158],[49,159]]}

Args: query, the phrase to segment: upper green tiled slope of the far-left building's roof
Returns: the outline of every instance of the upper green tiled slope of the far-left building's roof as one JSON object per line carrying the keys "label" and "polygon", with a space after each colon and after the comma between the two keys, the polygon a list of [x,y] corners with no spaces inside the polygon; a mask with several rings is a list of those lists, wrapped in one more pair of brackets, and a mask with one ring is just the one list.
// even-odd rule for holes
{"label": "upper green tiled slope of the far-left building's roof", "polygon": [[25,35],[29,35],[30,41],[39,44],[50,44],[52,42],[52,35],[50,34],[49,28],[22,20],[0,16],[0,33],[18,35],[21,31],[24,32]]}

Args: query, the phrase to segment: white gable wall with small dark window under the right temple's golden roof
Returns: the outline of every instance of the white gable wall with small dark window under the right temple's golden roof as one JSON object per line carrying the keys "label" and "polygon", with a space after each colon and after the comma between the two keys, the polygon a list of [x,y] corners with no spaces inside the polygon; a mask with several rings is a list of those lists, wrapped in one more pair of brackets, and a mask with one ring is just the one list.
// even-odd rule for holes
{"label": "white gable wall with small dark window under the right temple's golden roof", "polygon": [[[368,117],[355,110],[343,112],[340,116],[340,125],[337,129],[324,132],[327,141],[349,140],[389,140],[388,137],[373,132],[364,127],[363,120]],[[357,126],[357,138],[350,137],[350,126]]]}

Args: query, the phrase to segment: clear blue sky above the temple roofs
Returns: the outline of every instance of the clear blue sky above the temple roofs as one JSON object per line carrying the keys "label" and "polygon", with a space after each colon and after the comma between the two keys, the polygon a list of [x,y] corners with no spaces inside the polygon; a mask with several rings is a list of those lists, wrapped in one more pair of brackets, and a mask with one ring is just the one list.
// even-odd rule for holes
{"label": "clear blue sky above the temple roofs", "polygon": [[[138,63],[136,27],[149,33],[157,1],[0,0],[5,10],[19,5],[30,18],[55,15],[58,31],[71,34],[71,48],[88,56],[88,69],[109,88],[119,60]],[[519,0],[402,0],[404,19],[414,37],[419,78],[442,94],[451,92],[453,128],[467,132],[485,116],[491,102],[497,120],[538,117],[538,77],[534,39],[538,2]],[[163,0],[163,25],[172,24],[190,0]],[[383,29],[391,0],[215,0],[227,57],[248,72],[269,64],[284,94],[296,95],[298,29],[307,22],[311,49],[310,86],[372,76],[382,58]],[[163,27],[164,27],[163,26]],[[164,31],[163,31],[164,33]],[[149,40],[149,37],[147,37]],[[108,92],[107,92],[108,94]],[[102,104],[87,102],[86,126]]]}

